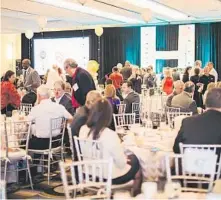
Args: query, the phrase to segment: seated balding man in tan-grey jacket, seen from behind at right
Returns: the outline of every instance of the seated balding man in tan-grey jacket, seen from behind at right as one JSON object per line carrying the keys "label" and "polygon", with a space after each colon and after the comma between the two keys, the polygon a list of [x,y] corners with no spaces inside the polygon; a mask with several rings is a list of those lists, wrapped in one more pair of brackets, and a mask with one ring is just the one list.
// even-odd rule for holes
{"label": "seated balding man in tan-grey jacket, seen from behind at right", "polygon": [[186,82],[184,85],[184,91],[173,97],[171,106],[180,108],[182,112],[193,112],[193,114],[197,114],[197,105],[192,98],[194,90],[194,83],[191,81]]}

